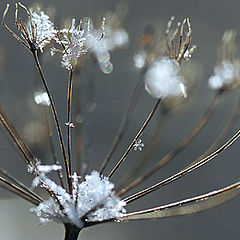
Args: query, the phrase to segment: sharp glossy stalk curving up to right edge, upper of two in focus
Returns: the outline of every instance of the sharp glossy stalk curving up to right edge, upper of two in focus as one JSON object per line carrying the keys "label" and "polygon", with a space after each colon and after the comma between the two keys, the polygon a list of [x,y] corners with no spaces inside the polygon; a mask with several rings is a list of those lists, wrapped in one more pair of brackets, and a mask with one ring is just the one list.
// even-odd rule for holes
{"label": "sharp glossy stalk curving up to right edge, upper of two in focus", "polygon": [[172,175],[171,177],[149,187],[146,188],[136,194],[133,194],[127,198],[124,199],[124,201],[126,201],[127,203],[130,203],[134,200],[137,200],[143,196],[145,196],[148,193],[151,193],[157,189],[159,189],[160,187],[169,184],[170,182],[173,182],[175,180],[177,180],[178,178],[192,172],[193,170],[203,166],[204,164],[208,163],[209,161],[211,161],[212,159],[214,159],[216,156],[218,156],[221,152],[225,151],[228,147],[230,147],[238,138],[240,137],[240,130],[238,130],[235,135],[229,139],[225,144],[223,144],[220,148],[218,148],[215,152],[213,152],[212,154],[208,155],[207,157],[201,159],[200,161],[198,161],[197,163],[195,163],[194,165],[189,166],[188,168],[185,168],[183,170],[181,170],[180,172]]}

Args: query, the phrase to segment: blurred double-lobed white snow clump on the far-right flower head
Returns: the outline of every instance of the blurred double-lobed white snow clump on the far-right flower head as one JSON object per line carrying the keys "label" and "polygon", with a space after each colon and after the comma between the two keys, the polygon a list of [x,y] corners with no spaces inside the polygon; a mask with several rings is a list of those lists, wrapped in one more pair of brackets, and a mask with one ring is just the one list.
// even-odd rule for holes
{"label": "blurred double-lobed white snow clump on the far-right flower head", "polygon": [[208,84],[212,89],[220,89],[225,85],[229,85],[234,81],[235,68],[230,61],[223,61],[220,66],[214,68],[214,75],[208,80]]}

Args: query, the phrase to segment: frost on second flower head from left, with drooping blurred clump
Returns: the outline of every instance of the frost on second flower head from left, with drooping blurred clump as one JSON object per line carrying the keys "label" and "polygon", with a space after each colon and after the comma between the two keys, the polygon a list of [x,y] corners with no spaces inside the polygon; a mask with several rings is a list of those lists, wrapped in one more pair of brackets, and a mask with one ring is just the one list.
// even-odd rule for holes
{"label": "frost on second flower head from left, with drooping blurred clump", "polygon": [[[113,70],[110,62],[110,53],[103,43],[104,35],[97,31],[90,18],[84,18],[76,26],[75,19],[72,19],[70,29],[62,29],[58,32],[55,40],[64,46],[62,56],[62,66],[68,70],[77,65],[78,58],[90,52],[97,59],[101,70],[104,73],[111,73]],[[58,51],[52,48],[52,55]]]}

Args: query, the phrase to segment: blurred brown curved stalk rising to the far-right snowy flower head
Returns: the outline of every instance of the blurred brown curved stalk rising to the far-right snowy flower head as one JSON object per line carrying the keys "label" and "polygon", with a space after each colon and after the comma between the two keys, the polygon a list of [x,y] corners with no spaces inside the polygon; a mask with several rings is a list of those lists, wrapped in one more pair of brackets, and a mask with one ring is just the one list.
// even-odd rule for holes
{"label": "blurred brown curved stalk rising to the far-right snowy flower head", "polygon": [[149,172],[147,172],[145,175],[137,178],[133,182],[131,182],[126,188],[122,189],[118,195],[121,196],[131,189],[135,188],[142,182],[144,182],[146,179],[151,177],[154,173],[159,171],[163,166],[165,166],[169,161],[171,161],[174,157],[176,157],[180,152],[182,152],[188,145],[193,141],[193,139],[201,132],[201,130],[205,127],[213,113],[215,112],[220,98],[222,94],[216,94],[214,99],[212,100],[211,104],[209,105],[207,111],[204,113],[204,115],[201,117],[199,122],[193,127],[191,132],[186,136],[179,145],[173,149],[171,152],[169,152],[167,155],[165,155]]}

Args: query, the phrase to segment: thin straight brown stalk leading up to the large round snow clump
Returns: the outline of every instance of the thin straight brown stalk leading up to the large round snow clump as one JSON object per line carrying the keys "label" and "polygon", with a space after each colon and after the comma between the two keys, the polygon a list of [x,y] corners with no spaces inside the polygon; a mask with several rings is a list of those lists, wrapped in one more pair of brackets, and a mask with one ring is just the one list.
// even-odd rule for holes
{"label": "thin straight brown stalk leading up to the large round snow clump", "polygon": [[159,98],[157,100],[157,102],[155,103],[153,110],[151,111],[151,113],[148,115],[146,121],[143,123],[142,127],[140,128],[140,130],[138,131],[138,133],[136,134],[136,136],[134,137],[134,139],[132,140],[132,142],[130,143],[130,145],[128,146],[127,150],[125,151],[125,153],[122,155],[122,157],[120,158],[120,160],[118,161],[118,163],[115,165],[115,167],[112,169],[112,171],[110,172],[110,174],[108,175],[109,178],[111,178],[111,176],[114,174],[114,172],[119,168],[119,166],[124,162],[124,160],[126,159],[128,153],[130,152],[130,150],[132,149],[134,143],[137,141],[137,139],[142,135],[143,131],[145,130],[145,128],[147,127],[148,123],[151,121],[154,113],[156,112],[159,104],[161,102],[161,98]]}

